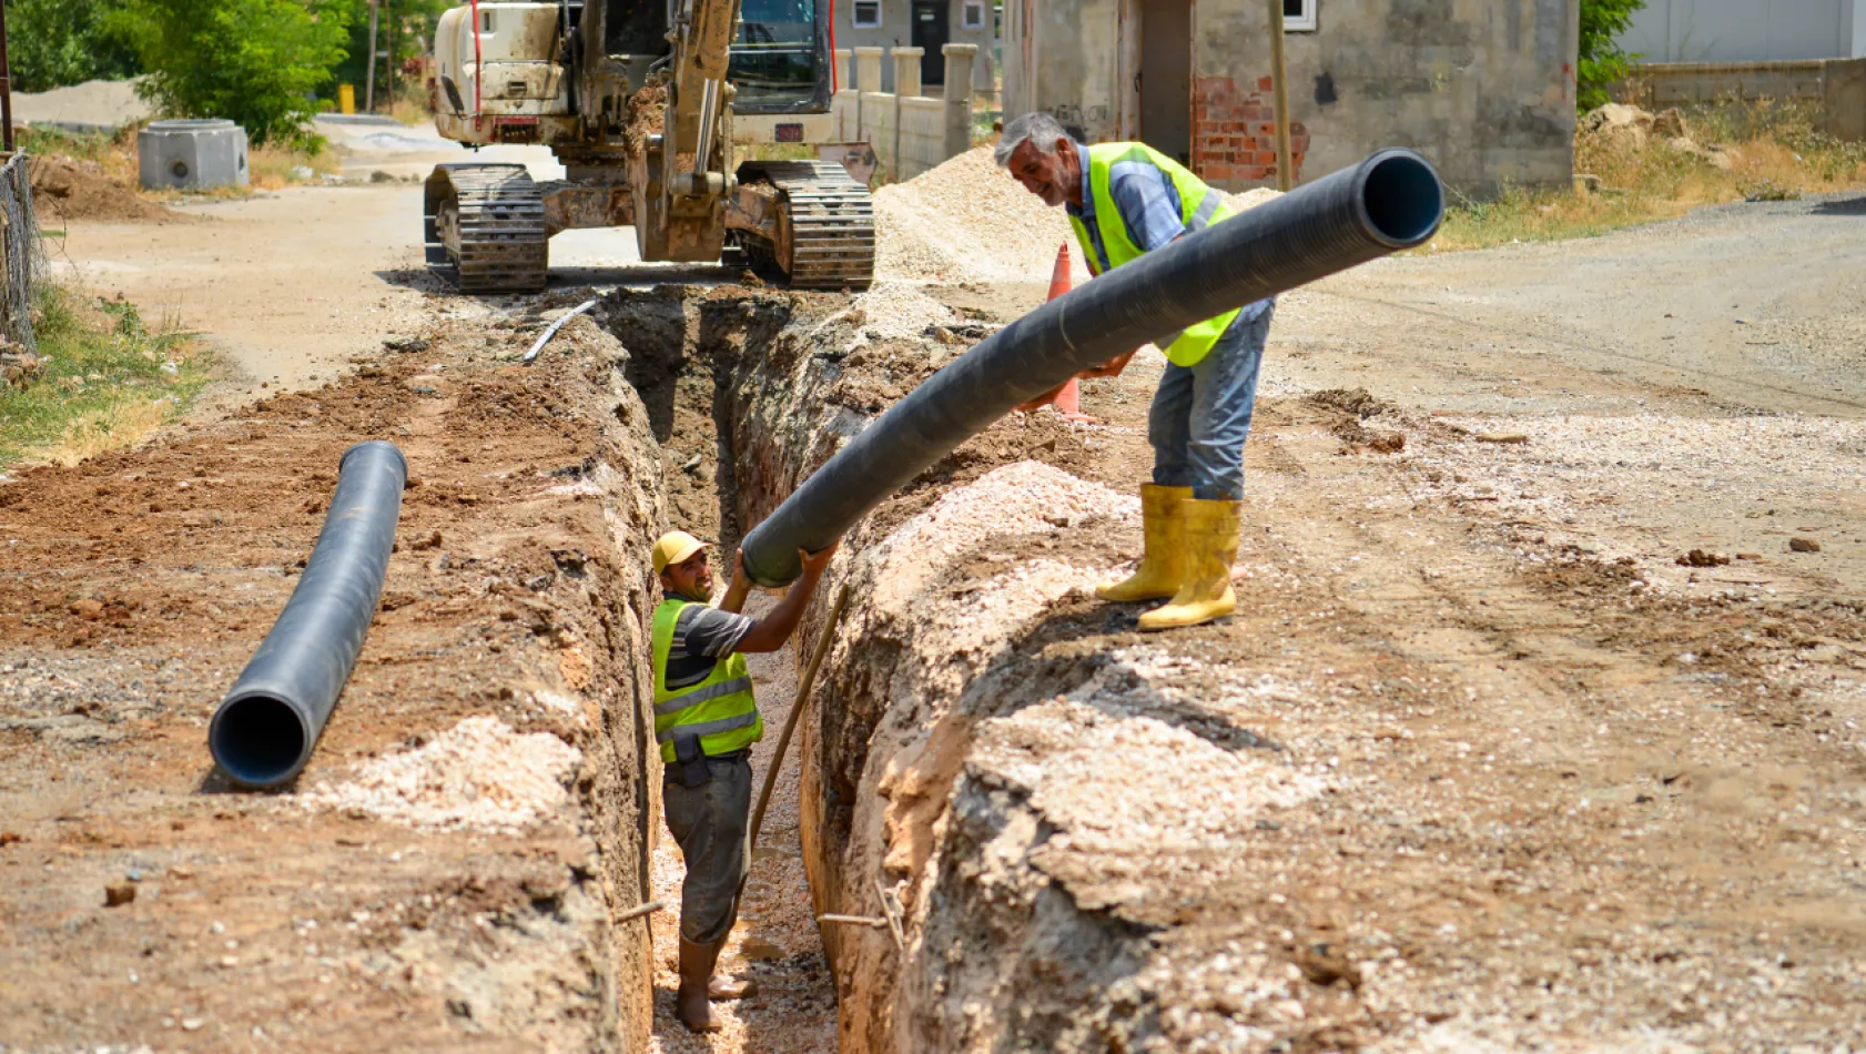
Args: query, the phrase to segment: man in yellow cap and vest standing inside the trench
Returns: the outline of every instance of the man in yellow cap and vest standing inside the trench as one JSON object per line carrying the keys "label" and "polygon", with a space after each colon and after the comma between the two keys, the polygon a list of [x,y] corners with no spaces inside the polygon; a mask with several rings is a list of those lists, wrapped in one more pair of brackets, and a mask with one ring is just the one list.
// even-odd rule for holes
{"label": "man in yellow cap and vest standing inside the trench", "polygon": [[668,830],[687,864],[675,1013],[694,1032],[718,1032],[713,1000],[752,994],[748,981],[713,976],[750,871],[752,744],[765,737],[745,657],[784,647],[836,545],[799,552],[802,576],[761,619],[741,614],[752,591],[743,554],[726,595],[711,603],[711,550],[679,530],[653,548],[662,595],[653,621],[655,742],[666,765]]}

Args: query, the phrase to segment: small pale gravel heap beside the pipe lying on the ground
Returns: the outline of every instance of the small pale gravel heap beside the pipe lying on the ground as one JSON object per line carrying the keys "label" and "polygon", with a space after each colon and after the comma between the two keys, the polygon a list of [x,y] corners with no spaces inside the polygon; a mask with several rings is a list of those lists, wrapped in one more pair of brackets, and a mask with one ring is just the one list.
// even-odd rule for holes
{"label": "small pale gravel heap beside the pipe lying on the ground", "polygon": [[476,716],[416,750],[358,765],[353,780],[321,784],[299,804],[411,826],[517,830],[569,802],[564,780],[580,761],[582,752],[554,735],[521,735]]}

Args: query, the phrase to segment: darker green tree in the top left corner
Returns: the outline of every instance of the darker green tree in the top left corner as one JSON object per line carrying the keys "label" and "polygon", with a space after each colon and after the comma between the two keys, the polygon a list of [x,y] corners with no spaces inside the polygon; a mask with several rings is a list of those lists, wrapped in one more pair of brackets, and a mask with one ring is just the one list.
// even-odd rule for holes
{"label": "darker green tree in the top left corner", "polygon": [[17,91],[142,73],[136,50],[106,28],[119,0],[6,0],[7,60]]}

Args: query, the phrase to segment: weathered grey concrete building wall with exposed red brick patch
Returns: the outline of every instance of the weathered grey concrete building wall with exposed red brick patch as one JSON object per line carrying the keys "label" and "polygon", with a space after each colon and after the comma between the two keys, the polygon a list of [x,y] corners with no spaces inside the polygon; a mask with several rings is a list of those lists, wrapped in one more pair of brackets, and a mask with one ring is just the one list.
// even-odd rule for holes
{"label": "weathered grey concrete building wall with exposed red brick patch", "polygon": [[[1006,0],[1006,116],[1041,108],[1090,142],[1144,138],[1127,32],[1144,2]],[[1297,175],[1407,146],[1467,194],[1566,187],[1579,11],[1579,0],[1321,0],[1316,32],[1286,34]],[[1233,190],[1274,181],[1263,0],[1198,0],[1192,37],[1192,168]]]}

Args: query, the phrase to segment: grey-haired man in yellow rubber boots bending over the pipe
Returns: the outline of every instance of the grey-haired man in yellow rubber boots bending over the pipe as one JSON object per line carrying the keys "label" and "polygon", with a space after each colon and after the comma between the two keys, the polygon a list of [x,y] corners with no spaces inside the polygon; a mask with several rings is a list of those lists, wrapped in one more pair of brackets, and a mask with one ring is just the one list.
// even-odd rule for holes
{"label": "grey-haired man in yellow rubber boots bending over the pipe", "polygon": [[[1222,194],[1153,147],[1082,146],[1049,114],[1006,125],[995,159],[1043,203],[1067,209],[1093,274],[1232,215]],[[1258,300],[1155,341],[1168,366],[1148,416],[1153,481],[1140,487],[1146,552],[1129,578],[1095,589],[1105,601],[1168,601],[1142,614],[1140,629],[1200,625],[1237,608],[1232,560],[1245,438],[1274,308],[1274,300]],[[1079,377],[1116,377],[1133,356]]]}

